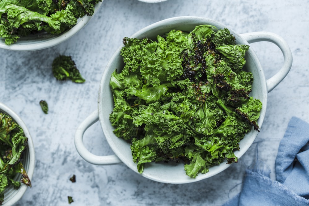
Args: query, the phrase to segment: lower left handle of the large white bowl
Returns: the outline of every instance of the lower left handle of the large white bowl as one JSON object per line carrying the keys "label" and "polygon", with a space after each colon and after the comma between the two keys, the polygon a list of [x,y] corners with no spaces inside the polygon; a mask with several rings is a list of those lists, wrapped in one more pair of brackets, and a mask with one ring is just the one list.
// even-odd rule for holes
{"label": "lower left handle of the large white bowl", "polygon": [[116,154],[98,156],[89,152],[85,147],[83,143],[84,133],[92,124],[94,124],[98,120],[99,114],[96,110],[92,112],[91,115],[89,115],[77,128],[74,136],[74,144],[77,152],[84,160],[94,165],[114,165],[121,163],[121,160],[116,156]]}

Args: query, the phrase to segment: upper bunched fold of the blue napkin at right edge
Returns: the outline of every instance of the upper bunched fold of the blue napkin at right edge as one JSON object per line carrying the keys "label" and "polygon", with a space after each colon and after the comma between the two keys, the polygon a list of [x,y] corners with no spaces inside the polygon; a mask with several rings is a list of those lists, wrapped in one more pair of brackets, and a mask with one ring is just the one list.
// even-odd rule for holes
{"label": "upper bunched fold of the blue napkin at right edge", "polygon": [[309,195],[309,124],[292,117],[279,144],[276,180],[300,196]]}

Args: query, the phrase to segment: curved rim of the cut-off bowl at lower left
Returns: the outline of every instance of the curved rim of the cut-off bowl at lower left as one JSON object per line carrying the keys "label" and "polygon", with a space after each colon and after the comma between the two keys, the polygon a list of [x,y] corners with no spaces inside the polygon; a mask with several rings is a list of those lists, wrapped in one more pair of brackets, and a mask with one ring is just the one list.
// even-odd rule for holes
{"label": "curved rim of the cut-off bowl at lower left", "polygon": [[[34,173],[34,168],[35,168],[35,151],[34,151],[34,145],[32,141],[32,137],[30,135],[30,132],[26,126],[26,124],[23,122],[23,120],[8,106],[0,102],[0,111],[5,112],[9,116],[12,117],[13,120],[23,129],[23,132],[26,137],[28,137],[28,146],[26,150],[28,150],[29,153],[29,165],[28,165],[28,170],[27,174],[29,179],[32,181],[33,173]],[[11,196],[9,200],[6,200],[6,197],[4,197],[4,201],[2,205],[12,205],[15,204],[18,200],[20,200],[23,196],[23,194],[26,192],[29,186],[25,184],[21,184],[19,189],[16,190],[15,194]]]}

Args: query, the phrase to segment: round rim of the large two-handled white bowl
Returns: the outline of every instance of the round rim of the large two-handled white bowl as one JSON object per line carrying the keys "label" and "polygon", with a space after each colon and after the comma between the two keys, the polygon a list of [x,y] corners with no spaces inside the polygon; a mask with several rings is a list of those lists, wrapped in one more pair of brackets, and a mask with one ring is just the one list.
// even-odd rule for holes
{"label": "round rim of the large two-handled white bowl", "polygon": [[[150,24],[149,26],[146,26],[146,27],[142,28],[141,30],[139,30],[138,32],[134,33],[130,37],[137,37],[137,38],[145,37],[145,36],[147,36],[147,33],[149,34],[151,32],[151,30],[153,30],[153,29],[156,30],[156,32],[157,32],[157,30],[159,30],[158,29],[159,27],[160,27],[160,29],[161,29],[161,27],[163,27],[163,29],[164,29],[164,27],[168,27],[171,24],[178,24],[180,26],[184,26],[185,23],[190,23],[191,21],[194,21],[195,25],[212,24],[212,25],[214,25],[217,28],[228,28],[230,30],[230,32],[235,35],[237,41],[241,41],[241,42],[244,42],[246,44],[249,44],[240,34],[235,32],[230,27],[228,27],[228,26],[226,26],[226,25],[224,25],[224,24],[222,24],[222,23],[220,23],[218,21],[215,21],[213,19],[207,19],[207,18],[196,17],[196,16],[179,16],[179,17],[172,17],[172,18],[168,18],[168,19],[163,19],[161,21],[158,21],[156,23]],[[201,22],[201,23],[200,24],[196,24],[197,22]],[[158,35],[159,35],[159,32],[158,32]],[[116,154],[116,156],[122,162],[124,162],[125,165],[128,166],[130,169],[134,170],[135,172],[138,172],[137,169],[136,169],[136,165],[135,165],[135,168],[133,168],[132,165],[130,165],[131,163],[126,162],[126,161],[128,161],[127,157],[124,157],[121,154],[122,151],[119,151],[119,149],[115,149],[116,148],[115,147],[115,143],[112,142],[112,140],[111,140],[112,137],[109,137],[108,122],[107,122],[107,120],[105,120],[106,117],[102,114],[104,112],[104,109],[105,109],[104,107],[106,107],[105,105],[103,106],[102,103],[101,103],[102,102],[103,91],[105,93],[105,91],[106,91],[106,87],[105,86],[108,84],[107,82],[109,82],[109,79],[110,79],[109,72],[110,72],[110,70],[114,71],[114,69],[115,69],[115,68],[111,68],[111,66],[112,66],[113,62],[119,57],[120,49],[122,47],[123,47],[123,45],[121,47],[119,47],[115,51],[114,55],[108,61],[108,64],[105,67],[105,70],[104,70],[102,78],[101,78],[101,82],[100,82],[100,86],[99,86],[99,95],[98,95],[99,122],[100,122],[101,128],[102,128],[102,130],[104,132],[104,136],[105,136],[109,146],[111,147],[113,152]],[[267,92],[267,88],[266,88],[266,79],[265,79],[265,75],[264,75],[264,70],[263,70],[263,68],[260,65],[260,61],[259,61],[256,53],[251,48],[249,48],[248,51],[250,53],[250,57],[252,57],[252,61],[254,62],[256,67],[259,69],[259,72],[258,72],[259,74],[258,75],[260,76],[260,81],[262,81],[261,82],[262,83],[261,88],[262,88],[262,91],[263,91],[263,94],[262,94],[262,96],[263,96],[263,108],[262,108],[262,110],[263,111],[261,111],[260,118],[258,120],[258,124],[259,124],[259,126],[261,128],[262,127],[262,123],[264,121],[266,107],[267,107],[267,96],[268,96],[267,94],[268,94],[268,92]],[[105,90],[104,90],[104,88],[105,88]],[[258,132],[256,132],[255,134],[250,134],[250,135],[252,135],[252,136],[249,139],[250,141],[248,141],[248,143],[245,144],[245,148],[242,148],[239,151],[236,151],[236,152],[238,152],[237,155],[236,155],[238,158],[242,157],[243,154],[250,148],[250,146],[252,145],[253,141],[256,139],[256,136],[258,135]],[[249,135],[247,134],[247,136],[249,136]],[[182,179],[182,180],[163,180],[163,179],[160,179],[160,177],[158,175],[155,175],[154,173],[149,173],[148,174],[145,170],[144,170],[144,172],[141,175],[146,177],[146,178],[148,178],[148,179],[152,179],[154,181],[162,182],[162,183],[174,183],[174,184],[193,183],[193,182],[197,182],[197,181],[200,181],[202,179],[206,179],[206,178],[209,178],[211,176],[217,175],[220,172],[222,172],[223,170],[226,170],[229,166],[231,166],[231,164],[228,165],[228,164],[224,164],[224,163],[225,162],[222,162],[221,164],[219,164],[217,166],[212,166],[211,167],[211,168],[217,168],[217,169],[213,169],[216,172],[208,172],[206,174],[199,174],[195,179],[190,178],[190,179]]]}

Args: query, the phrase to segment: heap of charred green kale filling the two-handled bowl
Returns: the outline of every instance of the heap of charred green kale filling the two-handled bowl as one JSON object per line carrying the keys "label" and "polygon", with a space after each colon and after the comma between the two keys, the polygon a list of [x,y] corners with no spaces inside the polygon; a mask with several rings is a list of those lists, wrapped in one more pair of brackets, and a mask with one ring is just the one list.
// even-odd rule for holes
{"label": "heap of charred green kale filling the two-handled bowl", "polygon": [[211,25],[164,36],[123,39],[125,66],[110,80],[115,135],[131,143],[140,173],[148,162],[182,160],[195,178],[237,162],[234,151],[252,126],[259,131],[262,108],[243,69],[249,46]]}

